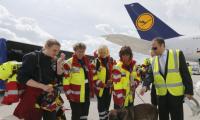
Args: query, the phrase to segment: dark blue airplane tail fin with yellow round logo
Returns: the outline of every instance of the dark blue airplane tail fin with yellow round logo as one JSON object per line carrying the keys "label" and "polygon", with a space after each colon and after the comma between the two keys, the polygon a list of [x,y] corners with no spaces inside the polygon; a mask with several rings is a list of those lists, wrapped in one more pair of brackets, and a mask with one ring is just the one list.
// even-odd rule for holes
{"label": "dark blue airplane tail fin with yellow round logo", "polygon": [[128,4],[125,7],[142,39],[151,41],[156,37],[169,39],[181,36],[139,3]]}

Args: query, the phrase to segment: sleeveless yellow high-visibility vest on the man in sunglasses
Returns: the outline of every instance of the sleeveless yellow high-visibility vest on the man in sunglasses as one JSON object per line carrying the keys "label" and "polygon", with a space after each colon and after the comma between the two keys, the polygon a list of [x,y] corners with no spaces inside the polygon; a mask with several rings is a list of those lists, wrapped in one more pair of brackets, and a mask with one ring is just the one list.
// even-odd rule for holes
{"label": "sleeveless yellow high-visibility vest on the man in sunglasses", "polygon": [[166,95],[167,91],[173,96],[184,94],[184,86],[179,71],[179,50],[169,50],[166,80],[160,74],[158,56],[155,56],[152,60],[152,69],[156,94],[158,96]]}

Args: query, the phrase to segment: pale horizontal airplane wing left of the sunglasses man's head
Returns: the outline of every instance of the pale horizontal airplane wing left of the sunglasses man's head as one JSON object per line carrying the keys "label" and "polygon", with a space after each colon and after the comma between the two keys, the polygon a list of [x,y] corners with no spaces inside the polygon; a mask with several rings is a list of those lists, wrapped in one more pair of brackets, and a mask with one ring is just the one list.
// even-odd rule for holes
{"label": "pale horizontal airplane wing left of the sunglasses man's head", "polygon": [[143,39],[138,39],[135,37],[130,37],[121,34],[109,34],[103,36],[106,40],[118,44],[120,46],[130,46],[134,52],[149,55],[149,50],[151,49],[151,42]]}

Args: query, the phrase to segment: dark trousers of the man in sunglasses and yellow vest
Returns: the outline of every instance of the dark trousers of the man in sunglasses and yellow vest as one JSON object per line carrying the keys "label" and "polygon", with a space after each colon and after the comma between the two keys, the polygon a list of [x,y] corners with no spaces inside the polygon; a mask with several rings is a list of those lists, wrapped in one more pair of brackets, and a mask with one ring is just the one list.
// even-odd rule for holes
{"label": "dark trousers of the man in sunglasses and yellow vest", "polygon": [[173,96],[167,93],[158,96],[159,120],[183,120],[183,98],[184,96]]}

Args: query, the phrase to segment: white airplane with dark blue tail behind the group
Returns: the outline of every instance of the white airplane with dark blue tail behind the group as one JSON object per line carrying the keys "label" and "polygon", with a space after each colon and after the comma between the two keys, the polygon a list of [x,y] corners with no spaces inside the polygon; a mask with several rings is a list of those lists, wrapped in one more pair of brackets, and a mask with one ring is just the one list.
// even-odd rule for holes
{"label": "white airplane with dark blue tail behind the group", "polygon": [[103,36],[106,40],[120,46],[129,45],[133,51],[148,55],[151,40],[161,37],[165,39],[167,48],[182,50],[187,61],[199,62],[200,65],[200,35],[187,37],[179,34],[139,3],[127,4],[125,8],[141,39],[110,34]]}

